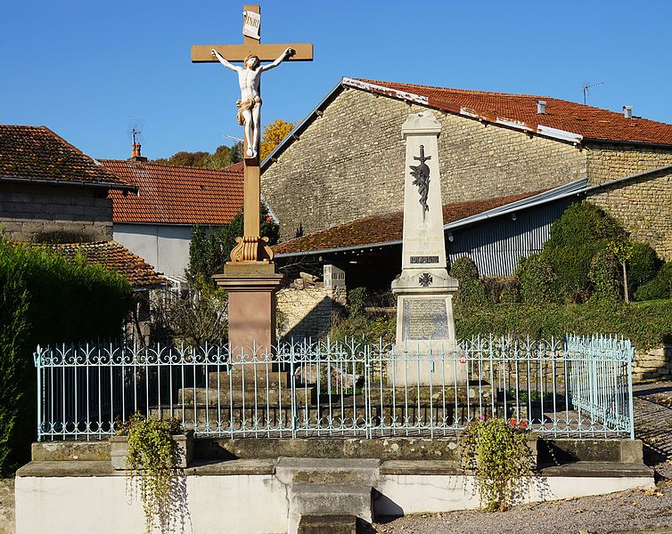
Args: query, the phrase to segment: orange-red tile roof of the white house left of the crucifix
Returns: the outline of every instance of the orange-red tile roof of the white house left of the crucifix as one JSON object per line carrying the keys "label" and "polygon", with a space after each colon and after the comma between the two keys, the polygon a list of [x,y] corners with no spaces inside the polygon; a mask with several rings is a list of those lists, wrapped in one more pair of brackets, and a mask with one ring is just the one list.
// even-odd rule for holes
{"label": "orange-red tile roof of the white house left of the crucifix", "polygon": [[223,169],[102,159],[105,168],[140,188],[112,192],[115,223],[228,224],[242,212],[242,164]]}

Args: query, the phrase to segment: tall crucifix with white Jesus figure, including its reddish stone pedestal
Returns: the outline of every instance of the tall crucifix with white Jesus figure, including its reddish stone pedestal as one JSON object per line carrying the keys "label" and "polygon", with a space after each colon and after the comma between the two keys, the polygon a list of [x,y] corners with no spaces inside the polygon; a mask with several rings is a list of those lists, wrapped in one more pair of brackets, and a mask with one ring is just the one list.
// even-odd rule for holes
{"label": "tall crucifix with white Jesus figure, including its reddish stone pedestal", "polygon": [[[224,274],[215,275],[217,286],[228,291],[229,343],[234,356],[271,351],[275,344],[275,292],[283,275],[273,262],[268,239],[259,235],[260,171],[259,137],[261,129],[261,75],[283,61],[312,61],[313,45],[261,44],[261,14],[258,5],[243,7],[242,44],[194,44],[192,61],[219,62],[238,75],[241,98],[235,115],[244,127],[244,230],[236,238],[231,261]],[[230,61],[242,61],[242,66]],[[262,64],[262,61],[272,61]],[[234,109],[234,102],[232,102]],[[232,113],[233,115],[233,113]]]}

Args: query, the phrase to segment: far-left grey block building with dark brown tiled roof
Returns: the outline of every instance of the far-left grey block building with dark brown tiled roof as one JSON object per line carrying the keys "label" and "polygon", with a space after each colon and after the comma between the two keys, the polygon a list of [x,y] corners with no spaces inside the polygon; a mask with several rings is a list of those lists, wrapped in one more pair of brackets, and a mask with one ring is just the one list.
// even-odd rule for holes
{"label": "far-left grey block building with dark brown tiled roof", "polygon": [[45,126],[0,125],[0,232],[11,241],[112,239],[111,190],[135,185]]}

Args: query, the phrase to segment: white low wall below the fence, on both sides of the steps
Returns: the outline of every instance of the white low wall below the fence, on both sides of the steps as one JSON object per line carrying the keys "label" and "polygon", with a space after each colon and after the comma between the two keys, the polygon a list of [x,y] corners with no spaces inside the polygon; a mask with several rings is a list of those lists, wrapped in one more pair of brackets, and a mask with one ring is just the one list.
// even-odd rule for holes
{"label": "white low wall below the fence, on both sides of the steps", "polygon": [[[92,462],[81,462],[86,464]],[[422,462],[421,462],[422,463]],[[143,534],[142,505],[129,502],[123,472],[108,476],[16,477],[17,534]],[[77,464],[61,462],[61,464]],[[109,469],[109,468],[108,468]],[[82,473],[85,474],[85,473]],[[538,502],[600,495],[633,488],[653,488],[653,477],[547,477],[534,479],[528,498]],[[472,477],[437,474],[386,474],[375,483],[375,514],[421,514],[479,507]],[[286,532],[287,487],[274,474],[186,476],[184,530],[254,534]]]}

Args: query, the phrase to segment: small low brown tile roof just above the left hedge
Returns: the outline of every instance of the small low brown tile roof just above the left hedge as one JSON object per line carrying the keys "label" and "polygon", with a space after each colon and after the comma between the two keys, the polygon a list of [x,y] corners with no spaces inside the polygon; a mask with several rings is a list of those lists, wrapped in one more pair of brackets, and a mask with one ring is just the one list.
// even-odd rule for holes
{"label": "small low brown tile roof just above the left hedge", "polygon": [[118,272],[135,289],[148,289],[169,285],[168,279],[165,279],[158,272],[154,271],[152,265],[115,241],[37,246],[58,252],[69,259],[74,258],[78,254],[84,255],[86,263],[98,263],[106,269]]}

